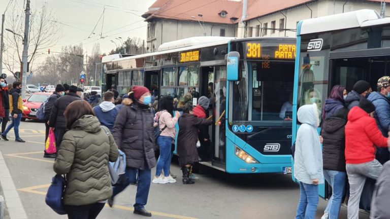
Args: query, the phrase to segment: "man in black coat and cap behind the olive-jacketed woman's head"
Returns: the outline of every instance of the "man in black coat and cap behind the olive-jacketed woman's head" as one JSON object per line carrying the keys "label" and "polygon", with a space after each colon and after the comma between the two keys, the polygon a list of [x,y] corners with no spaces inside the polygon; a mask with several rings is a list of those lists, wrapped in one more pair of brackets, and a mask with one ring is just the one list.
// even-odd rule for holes
{"label": "man in black coat and cap behind the olive-jacketed woman's head", "polygon": [[69,93],[65,96],[59,97],[53,104],[49,117],[49,126],[54,128],[55,131],[55,145],[57,149],[59,148],[63,134],[65,134],[67,121],[63,113],[67,106],[76,100],[81,100],[81,98],[76,94],[77,87],[72,85],[69,88]]}

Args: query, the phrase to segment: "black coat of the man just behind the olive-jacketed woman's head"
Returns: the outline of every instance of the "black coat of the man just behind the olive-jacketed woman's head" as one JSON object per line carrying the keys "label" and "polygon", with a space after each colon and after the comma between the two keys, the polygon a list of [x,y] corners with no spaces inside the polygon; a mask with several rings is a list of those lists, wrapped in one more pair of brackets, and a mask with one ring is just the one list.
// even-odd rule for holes
{"label": "black coat of the man just behind the olive-jacketed woman's head", "polygon": [[76,93],[69,92],[67,95],[58,98],[51,109],[49,116],[49,126],[56,129],[66,129],[67,121],[63,113],[69,104],[73,101],[81,100]]}

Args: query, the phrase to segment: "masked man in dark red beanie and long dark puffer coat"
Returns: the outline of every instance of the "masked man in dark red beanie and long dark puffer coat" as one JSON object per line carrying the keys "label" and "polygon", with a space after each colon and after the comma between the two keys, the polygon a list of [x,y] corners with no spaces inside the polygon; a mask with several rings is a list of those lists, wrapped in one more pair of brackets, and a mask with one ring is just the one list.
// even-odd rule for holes
{"label": "masked man in dark red beanie and long dark puffer coat", "polygon": [[132,101],[120,109],[112,133],[118,148],[126,155],[127,182],[113,188],[113,195],[108,204],[112,206],[117,194],[128,185],[136,183],[138,172],[134,213],[151,216],[152,214],[145,209],[151,183],[151,169],[156,165],[153,115],[149,106],[151,94],[146,87],[134,86],[129,98]]}

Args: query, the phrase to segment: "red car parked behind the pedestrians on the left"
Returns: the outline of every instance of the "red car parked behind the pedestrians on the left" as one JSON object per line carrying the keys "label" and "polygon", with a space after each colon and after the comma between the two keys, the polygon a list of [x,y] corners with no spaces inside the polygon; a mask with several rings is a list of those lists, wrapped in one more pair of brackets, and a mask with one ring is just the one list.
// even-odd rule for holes
{"label": "red car parked behind the pedestrians on the left", "polygon": [[37,114],[37,111],[42,105],[42,103],[45,102],[51,94],[52,93],[38,92],[31,94],[31,96],[29,96],[27,100],[23,99],[24,103],[22,121],[25,121],[26,119],[38,120],[35,115]]}

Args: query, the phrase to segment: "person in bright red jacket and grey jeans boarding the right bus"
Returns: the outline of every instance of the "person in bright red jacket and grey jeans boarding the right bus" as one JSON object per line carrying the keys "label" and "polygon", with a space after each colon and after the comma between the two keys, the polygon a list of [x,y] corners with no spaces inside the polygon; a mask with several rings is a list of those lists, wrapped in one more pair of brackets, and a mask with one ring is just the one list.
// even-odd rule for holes
{"label": "person in bright red jacket and grey jeans boarding the right bus", "polygon": [[359,218],[359,201],[367,177],[377,179],[382,165],[375,159],[377,147],[388,147],[373,118],[375,106],[362,98],[348,114],[345,126],[345,163],[349,181],[348,219]]}

